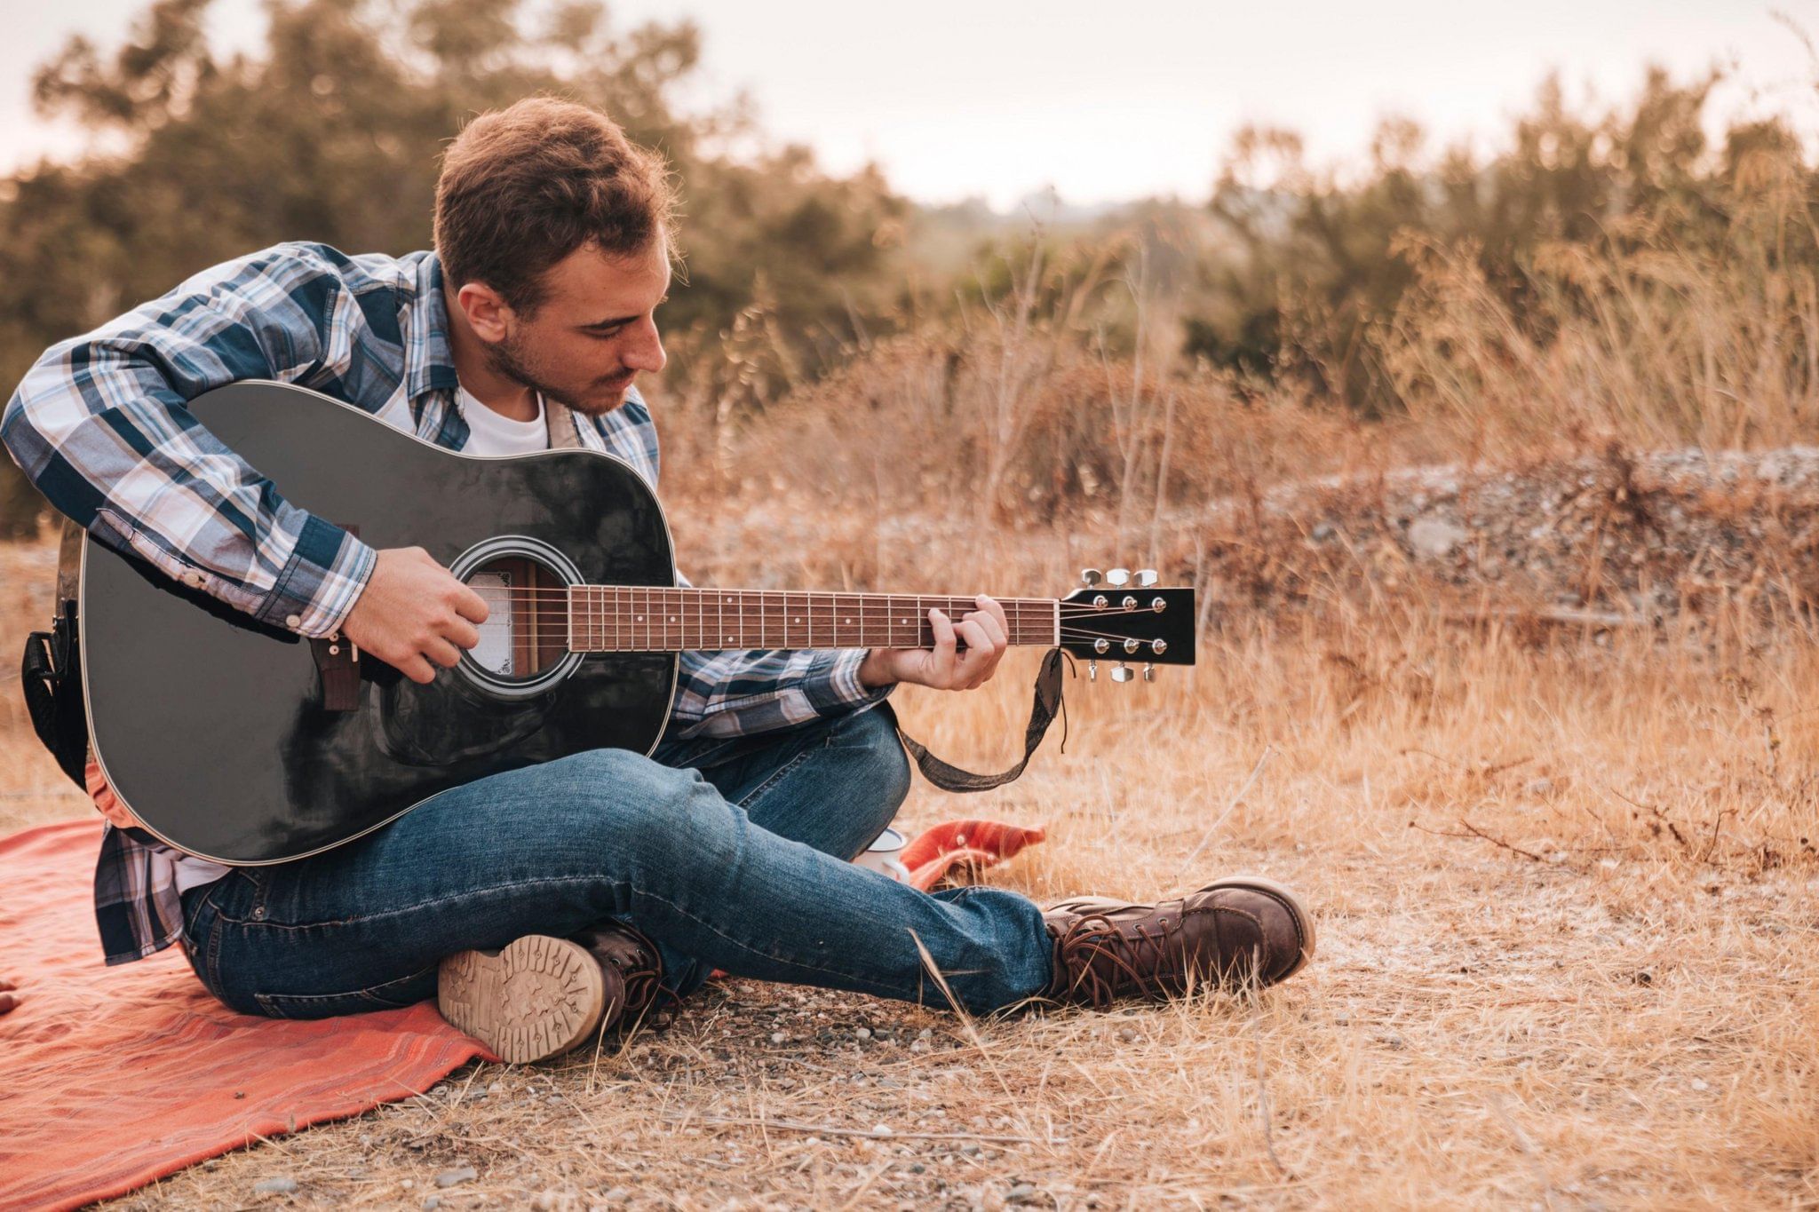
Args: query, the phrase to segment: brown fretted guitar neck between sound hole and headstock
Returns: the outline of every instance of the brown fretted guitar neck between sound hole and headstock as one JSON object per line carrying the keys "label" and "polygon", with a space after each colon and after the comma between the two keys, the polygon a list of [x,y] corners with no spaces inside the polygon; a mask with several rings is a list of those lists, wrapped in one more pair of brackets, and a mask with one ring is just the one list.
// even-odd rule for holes
{"label": "brown fretted guitar neck between sound hole and headstock", "polygon": [[[1011,643],[1053,647],[1060,603],[999,598]],[[715,649],[931,649],[931,609],[959,620],[979,605],[940,594],[824,594],[766,589],[573,585],[573,652],[680,652]],[[964,647],[964,643],[962,643]]]}

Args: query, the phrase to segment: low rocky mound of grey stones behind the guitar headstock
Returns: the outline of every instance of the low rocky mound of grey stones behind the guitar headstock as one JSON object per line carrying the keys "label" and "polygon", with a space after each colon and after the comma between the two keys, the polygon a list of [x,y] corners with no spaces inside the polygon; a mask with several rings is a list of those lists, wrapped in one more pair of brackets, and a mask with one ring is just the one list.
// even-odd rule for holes
{"label": "low rocky mound of grey stones behind the guitar headstock", "polygon": [[1359,605],[1412,592],[1459,609],[1650,623],[1819,596],[1819,447],[1628,452],[1517,469],[1421,467],[1224,502],[1197,551],[1228,609]]}

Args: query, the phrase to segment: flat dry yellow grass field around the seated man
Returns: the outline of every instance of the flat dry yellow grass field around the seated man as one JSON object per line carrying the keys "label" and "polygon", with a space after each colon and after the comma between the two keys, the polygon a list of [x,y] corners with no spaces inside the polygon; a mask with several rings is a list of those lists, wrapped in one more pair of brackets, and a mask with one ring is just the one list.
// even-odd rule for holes
{"label": "flat dry yellow grass field around the seated man", "polygon": [[[1064,589],[1039,556],[997,536],[928,587]],[[49,549],[0,560],[11,652]],[[264,1201],[1819,1205],[1819,652],[1308,620],[1231,618],[1155,685],[1073,681],[1066,754],[979,798],[919,785],[902,818],[1044,825],[988,874],[1035,898],[1288,879],[1319,956],[1275,990],[988,1023],[729,981],[620,1048],[467,1067],[124,1203],[247,1207],[284,1176]],[[906,725],[1002,761],[1033,663],[904,690]],[[4,698],[0,825],[84,812]]]}

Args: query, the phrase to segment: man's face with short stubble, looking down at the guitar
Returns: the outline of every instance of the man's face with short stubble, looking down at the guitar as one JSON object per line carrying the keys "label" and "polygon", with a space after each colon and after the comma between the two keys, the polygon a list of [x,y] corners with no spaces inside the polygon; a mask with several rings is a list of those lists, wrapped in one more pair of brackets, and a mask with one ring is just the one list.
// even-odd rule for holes
{"label": "man's face with short stubble, looking down at the guitar", "polygon": [[666,240],[629,256],[584,243],[544,273],[544,298],[531,314],[506,314],[506,334],[486,345],[487,360],[577,412],[611,412],[640,371],[664,369],[657,307],[668,294]]}

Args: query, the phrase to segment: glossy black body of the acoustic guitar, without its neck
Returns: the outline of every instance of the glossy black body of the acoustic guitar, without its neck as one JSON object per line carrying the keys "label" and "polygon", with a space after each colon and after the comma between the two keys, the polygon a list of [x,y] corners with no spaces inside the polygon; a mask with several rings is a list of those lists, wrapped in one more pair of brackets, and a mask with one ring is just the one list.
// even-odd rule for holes
{"label": "glossy black body of the acoustic guitar, without its neck", "polygon": [[[189,407],[286,500],[375,549],[424,547],[457,572],[528,556],[558,581],[675,583],[657,496],[608,454],[464,456],[276,383]],[[564,647],[546,674],[520,678],[464,658],[429,685],[362,654],[347,701],[331,707],[326,649],[85,543],[84,692],[102,772],[153,834],[224,863],[324,850],[500,770],[602,747],[649,752],[677,680],[671,652]]]}

